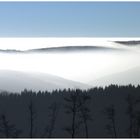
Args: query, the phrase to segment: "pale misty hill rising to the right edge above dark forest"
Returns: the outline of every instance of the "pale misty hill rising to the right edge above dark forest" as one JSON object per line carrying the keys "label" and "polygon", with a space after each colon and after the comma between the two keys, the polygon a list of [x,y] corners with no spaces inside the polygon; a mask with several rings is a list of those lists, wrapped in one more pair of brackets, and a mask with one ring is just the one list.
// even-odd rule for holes
{"label": "pale misty hill rising to the right edge above dark forest", "polygon": [[140,67],[132,68],[127,71],[108,75],[103,78],[89,82],[92,86],[107,86],[110,84],[118,85],[138,85],[140,84]]}

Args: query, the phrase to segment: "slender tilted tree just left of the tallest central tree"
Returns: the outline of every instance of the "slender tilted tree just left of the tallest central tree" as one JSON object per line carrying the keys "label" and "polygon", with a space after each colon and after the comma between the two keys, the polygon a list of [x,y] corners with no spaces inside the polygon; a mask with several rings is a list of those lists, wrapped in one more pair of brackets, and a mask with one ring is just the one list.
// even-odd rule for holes
{"label": "slender tilted tree just left of the tallest central tree", "polygon": [[56,118],[57,118],[57,115],[58,115],[59,107],[60,107],[59,104],[57,104],[56,102],[52,103],[49,106],[49,117],[50,117],[50,121],[49,122],[50,123],[45,128],[45,134],[48,135],[47,136],[48,138],[52,138],[53,131],[55,129],[55,123],[56,123]]}

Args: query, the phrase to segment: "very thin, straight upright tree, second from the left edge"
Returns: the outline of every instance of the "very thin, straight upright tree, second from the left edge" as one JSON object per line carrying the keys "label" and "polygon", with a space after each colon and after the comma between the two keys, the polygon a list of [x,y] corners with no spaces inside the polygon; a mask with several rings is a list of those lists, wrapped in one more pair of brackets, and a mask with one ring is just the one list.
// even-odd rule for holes
{"label": "very thin, straight upright tree, second from the left edge", "polygon": [[29,121],[30,121],[30,131],[29,131],[29,136],[30,138],[33,138],[33,133],[34,133],[34,120],[35,120],[35,107],[33,105],[33,101],[30,100],[30,104],[28,106],[29,108]]}

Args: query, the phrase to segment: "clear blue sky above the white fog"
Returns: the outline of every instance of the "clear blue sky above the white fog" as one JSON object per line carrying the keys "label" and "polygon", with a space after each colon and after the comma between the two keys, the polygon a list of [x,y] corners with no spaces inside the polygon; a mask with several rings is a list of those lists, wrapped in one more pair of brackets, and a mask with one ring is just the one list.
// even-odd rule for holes
{"label": "clear blue sky above the white fog", "polygon": [[139,37],[140,2],[0,2],[0,37]]}

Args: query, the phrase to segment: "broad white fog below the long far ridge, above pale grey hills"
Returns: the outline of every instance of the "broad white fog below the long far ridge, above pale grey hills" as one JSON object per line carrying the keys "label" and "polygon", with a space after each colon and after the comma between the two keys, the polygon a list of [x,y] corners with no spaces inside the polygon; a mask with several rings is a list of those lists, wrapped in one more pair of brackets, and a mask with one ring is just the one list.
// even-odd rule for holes
{"label": "broad white fog below the long far ridge, above pale grey hills", "polygon": [[119,52],[1,53],[0,70],[47,73],[88,83],[138,67],[139,61],[140,52],[137,48]]}

